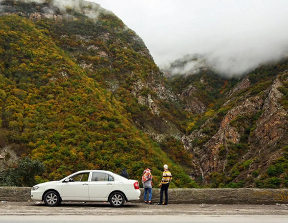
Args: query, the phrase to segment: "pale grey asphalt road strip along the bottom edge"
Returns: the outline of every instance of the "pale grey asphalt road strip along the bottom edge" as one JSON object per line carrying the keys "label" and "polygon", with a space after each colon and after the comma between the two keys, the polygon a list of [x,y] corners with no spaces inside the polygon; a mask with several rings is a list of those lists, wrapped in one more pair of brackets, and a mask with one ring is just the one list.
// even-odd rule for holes
{"label": "pale grey asphalt road strip along the bottom edge", "polygon": [[207,216],[207,215],[121,215],[121,216],[1,216],[0,222],[5,223],[90,223],[90,222],[112,222],[112,223],[175,223],[175,222],[193,222],[193,223],[287,223],[288,216],[271,216],[271,215],[218,215],[218,216]]}

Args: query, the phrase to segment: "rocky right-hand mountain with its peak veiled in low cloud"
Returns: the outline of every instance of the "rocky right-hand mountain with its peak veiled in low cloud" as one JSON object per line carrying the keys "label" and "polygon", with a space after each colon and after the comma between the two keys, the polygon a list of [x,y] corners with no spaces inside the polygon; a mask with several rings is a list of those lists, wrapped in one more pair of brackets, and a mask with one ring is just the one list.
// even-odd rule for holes
{"label": "rocky right-hand mountain with its peak veiled in low cloud", "polygon": [[190,58],[165,72],[195,114],[182,138],[200,169],[194,178],[213,188],[287,187],[288,59],[236,79],[205,66],[169,75],[175,64],[183,71]]}

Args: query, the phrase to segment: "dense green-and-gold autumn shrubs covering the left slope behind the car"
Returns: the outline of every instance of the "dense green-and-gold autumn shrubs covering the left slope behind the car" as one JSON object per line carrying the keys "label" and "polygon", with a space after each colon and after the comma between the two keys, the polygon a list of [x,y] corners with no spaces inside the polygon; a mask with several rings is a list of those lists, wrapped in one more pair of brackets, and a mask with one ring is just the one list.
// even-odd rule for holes
{"label": "dense green-and-gold autumn shrubs covering the left slope behind the car", "polygon": [[39,182],[82,169],[119,173],[123,167],[140,179],[149,166],[157,185],[168,163],[173,186],[194,186],[158,143],[134,127],[123,103],[57,46],[47,28],[41,20],[0,17],[0,147],[42,161],[46,172]]}

